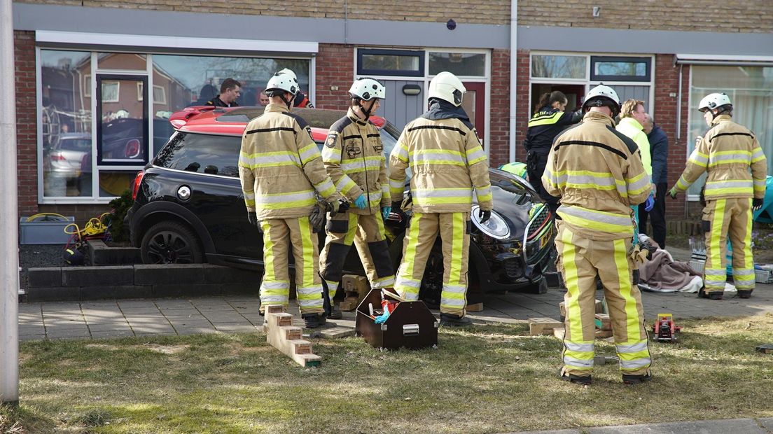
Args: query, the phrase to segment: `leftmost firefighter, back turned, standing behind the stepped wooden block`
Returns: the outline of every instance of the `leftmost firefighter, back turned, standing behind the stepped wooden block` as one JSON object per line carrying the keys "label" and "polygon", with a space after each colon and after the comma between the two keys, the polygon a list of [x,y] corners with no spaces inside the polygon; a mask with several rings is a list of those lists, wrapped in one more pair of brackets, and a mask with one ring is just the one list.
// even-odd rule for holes
{"label": "leftmost firefighter, back turned, standing behind the stepped wooden block", "polygon": [[298,92],[295,73],[283,70],[268,80],[269,104],[250,120],[242,137],[239,178],[247,219],[263,232],[264,276],[261,313],[267,305],[288,305],[288,251],[295,257],[295,290],[308,328],[325,324],[318,239],[308,215],[315,191],[336,211],[341,196],[325,173],[319,149],[305,120],[290,113]]}

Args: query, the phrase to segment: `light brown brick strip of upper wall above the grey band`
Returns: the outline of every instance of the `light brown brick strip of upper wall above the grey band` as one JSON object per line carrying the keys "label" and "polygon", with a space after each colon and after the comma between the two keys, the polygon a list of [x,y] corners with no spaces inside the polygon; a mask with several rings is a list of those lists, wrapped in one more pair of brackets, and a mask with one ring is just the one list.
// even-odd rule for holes
{"label": "light brown brick strip of upper wall above the grey band", "polygon": [[[509,0],[477,2],[431,2],[430,0],[21,0],[90,8],[131,8],[158,11],[217,13],[233,15],[275,15],[343,19],[385,19],[393,21],[446,22],[507,25]],[[345,4],[348,6],[346,7]],[[593,18],[593,7],[601,16]],[[705,0],[594,0],[594,2],[518,2],[519,25],[592,27],[614,29],[678,30],[696,32],[773,32],[773,2],[736,0],[724,4]]]}

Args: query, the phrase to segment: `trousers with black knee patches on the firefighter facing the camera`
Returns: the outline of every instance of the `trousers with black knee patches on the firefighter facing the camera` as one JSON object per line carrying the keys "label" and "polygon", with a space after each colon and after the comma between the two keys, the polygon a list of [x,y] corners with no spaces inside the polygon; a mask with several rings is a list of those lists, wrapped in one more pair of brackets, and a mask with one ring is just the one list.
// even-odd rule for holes
{"label": "trousers with black knee patches on the firefighter facing the camera", "polygon": [[[329,217],[329,216],[328,216]],[[365,274],[371,288],[390,288],[394,285],[394,271],[389,246],[384,236],[384,222],[380,212],[359,215],[343,212],[328,218],[327,239],[322,255],[319,256],[319,270],[332,303],[341,282],[343,265],[352,242],[363,261]]]}

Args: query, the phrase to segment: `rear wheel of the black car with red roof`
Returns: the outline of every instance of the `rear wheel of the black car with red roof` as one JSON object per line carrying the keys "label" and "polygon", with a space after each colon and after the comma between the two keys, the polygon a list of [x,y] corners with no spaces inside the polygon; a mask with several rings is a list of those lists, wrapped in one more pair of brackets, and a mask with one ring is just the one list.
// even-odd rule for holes
{"label": "rear wheel of the black car with red roof", "polygon": [[152,225],[142,237],[142,263],[203,263],[199,239],[186,225],[160,222]]}

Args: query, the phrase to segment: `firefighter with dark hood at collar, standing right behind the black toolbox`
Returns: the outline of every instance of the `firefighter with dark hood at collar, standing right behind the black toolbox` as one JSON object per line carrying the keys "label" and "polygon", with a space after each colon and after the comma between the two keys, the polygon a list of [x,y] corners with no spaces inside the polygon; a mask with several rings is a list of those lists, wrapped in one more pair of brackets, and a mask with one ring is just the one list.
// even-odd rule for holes
{"label": "firefighter with dark hood at collar, standing right behind the black toolbox", "polygon": [[393,208],[403,201],[405,171],[410,167],[413,216],[403,245],[395,290],[417,300],[424,267],[435,239],[443,243],[441,325],[465,326],[470,213],[473,190],[478,222],[493,207],[489,162],[461,100],[465,86],[452,73],[441,72],[429,87],[430,107],[405,127],[390,155]]}

